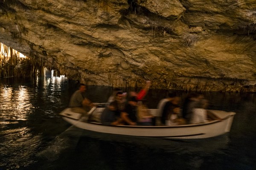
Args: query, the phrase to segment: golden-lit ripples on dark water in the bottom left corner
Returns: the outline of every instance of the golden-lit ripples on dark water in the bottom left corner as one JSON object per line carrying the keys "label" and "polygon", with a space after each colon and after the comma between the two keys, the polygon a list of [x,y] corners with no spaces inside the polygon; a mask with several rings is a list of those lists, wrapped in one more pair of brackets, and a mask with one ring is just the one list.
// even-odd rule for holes
{"label": "golden-lit ripples on dark water in the bottom left corner", "polygon": [[41,135],[34,135],[29,127],[1,130],[0,153],[4,155],[0,166],[15,169],[31,164],[34,153],[42,141]]}

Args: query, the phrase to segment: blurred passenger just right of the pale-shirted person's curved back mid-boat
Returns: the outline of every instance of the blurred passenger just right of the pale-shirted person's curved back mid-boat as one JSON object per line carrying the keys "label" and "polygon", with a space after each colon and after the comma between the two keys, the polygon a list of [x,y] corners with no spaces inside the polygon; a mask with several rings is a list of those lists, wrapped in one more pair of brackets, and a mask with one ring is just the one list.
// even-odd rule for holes
{"label": "blurred passenger just right of the pale-shirted person's curved back mid-boat", "polygon": [[180,118],[179,114],[180,114],[180,106],[172,105],[167,115],[166,125],[167,126],[184,125],[185,120]]}

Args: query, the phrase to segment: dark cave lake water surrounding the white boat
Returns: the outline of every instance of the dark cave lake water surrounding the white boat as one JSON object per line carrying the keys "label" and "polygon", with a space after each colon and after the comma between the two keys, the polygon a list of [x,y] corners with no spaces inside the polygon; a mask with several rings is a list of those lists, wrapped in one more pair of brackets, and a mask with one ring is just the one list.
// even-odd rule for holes
{"label": "dark cave lake water surrounding the white boat", "polygon": [[[77,83],[64,77],[0,79],[0,170],[256,169],[256,94],[204,93],[209,109],[236,112],[231,132],[184,141],[73,127],[58,113],[76,89]],[[87,97],[106,102],[111,90],[88,86]],[[156,108],[165,94],[150,90],[146,96],[149,107]],[[186,92],[178,94],[184,98]]]}

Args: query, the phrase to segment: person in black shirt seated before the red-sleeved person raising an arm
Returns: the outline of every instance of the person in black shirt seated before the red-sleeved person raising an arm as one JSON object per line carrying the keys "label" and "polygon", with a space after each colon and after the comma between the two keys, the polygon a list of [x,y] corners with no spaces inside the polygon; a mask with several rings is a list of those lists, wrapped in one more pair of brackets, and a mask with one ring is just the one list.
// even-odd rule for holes
{"label": "person in black shirt seated before the red-sleeved person raising an arm", "polygon": [[121,112],[125,125],[137,125],[137,99],[135,96],[128,99],[125,109]]}

